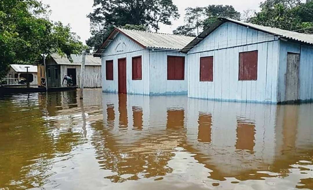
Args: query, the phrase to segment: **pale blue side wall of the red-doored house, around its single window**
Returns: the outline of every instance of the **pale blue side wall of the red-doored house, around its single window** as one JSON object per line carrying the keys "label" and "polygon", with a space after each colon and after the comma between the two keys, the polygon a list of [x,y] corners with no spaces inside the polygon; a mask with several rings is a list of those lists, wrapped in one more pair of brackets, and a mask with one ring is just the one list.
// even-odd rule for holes
{"label": "pale blue side wall of the red-doored house, around its single window", "polygon": [[175,50],[150,50],[150,94],[187,94],[188,64],[185,58],[185,80],[167,80],[167,56],[186,56]]}

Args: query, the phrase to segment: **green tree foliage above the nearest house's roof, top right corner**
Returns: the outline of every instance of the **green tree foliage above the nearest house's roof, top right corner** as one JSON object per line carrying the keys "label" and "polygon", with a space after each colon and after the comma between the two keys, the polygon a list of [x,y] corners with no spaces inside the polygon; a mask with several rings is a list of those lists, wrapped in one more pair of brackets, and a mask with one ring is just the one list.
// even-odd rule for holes
{"label": "green tree foliage above the nearest house's roof, top right corner", "polygon": [[312,0],[305,3],[299,0],[266,0],[260,8],[260,12],[248,19],[249,22],[304,33],[313,31],[310,28],[313,27]]}

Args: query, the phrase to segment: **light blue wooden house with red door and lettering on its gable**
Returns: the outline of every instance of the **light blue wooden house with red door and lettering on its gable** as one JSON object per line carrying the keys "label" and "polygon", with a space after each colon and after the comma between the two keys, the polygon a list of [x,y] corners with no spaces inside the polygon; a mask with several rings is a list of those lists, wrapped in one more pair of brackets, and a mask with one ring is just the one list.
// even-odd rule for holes
{"label": "light blue wooden house with red door and lettering on its gable", "polygon": [[104,92],[187,94],[187,63],[180,50],[193,37],[115,28],[96,52]]}

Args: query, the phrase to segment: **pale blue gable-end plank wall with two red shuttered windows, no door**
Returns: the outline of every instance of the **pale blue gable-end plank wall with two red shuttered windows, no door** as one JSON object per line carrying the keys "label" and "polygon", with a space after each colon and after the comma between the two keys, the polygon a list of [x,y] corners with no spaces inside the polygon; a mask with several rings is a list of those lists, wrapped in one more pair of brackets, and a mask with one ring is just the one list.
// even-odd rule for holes
{"label": "pale blue gable-end plank wall with two red shuttered windows, no door", "polygon": [[[239,53],[258,50],[258,79],[239,81]],[[188,52],[188,97],[277,102],[279,40],[234,23],[223,23]],[[213,57],[213,82],[200,82],[200,57]]]}

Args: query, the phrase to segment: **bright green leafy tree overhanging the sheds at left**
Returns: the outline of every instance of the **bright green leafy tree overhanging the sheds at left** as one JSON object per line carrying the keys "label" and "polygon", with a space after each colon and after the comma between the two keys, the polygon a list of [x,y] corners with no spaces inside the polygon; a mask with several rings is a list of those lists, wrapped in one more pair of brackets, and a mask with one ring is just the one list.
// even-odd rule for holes
{"label": "bright green leafy tree overhanging the sheds at left", "polygon": [[48,8],[37,0],[0,1],[0,77],[9,64],[34,64],[48,53],[71,60],[84,48],[69,26],[49,21]]}

